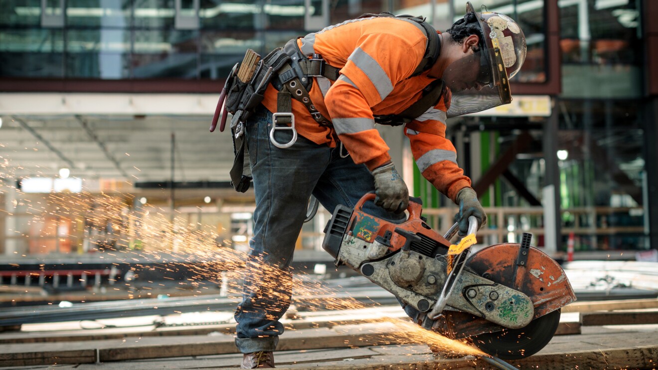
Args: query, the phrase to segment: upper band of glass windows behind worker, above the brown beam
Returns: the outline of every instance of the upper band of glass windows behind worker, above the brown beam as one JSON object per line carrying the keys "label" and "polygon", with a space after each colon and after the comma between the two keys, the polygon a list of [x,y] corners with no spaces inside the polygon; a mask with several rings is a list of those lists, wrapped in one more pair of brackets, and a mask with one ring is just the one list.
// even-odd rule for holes
{"label": "upper band of glass windows behind worker, above the brown beam", "polygon": [[[422,14],[445,31],[464,11],[454,0],[311,0],[309,7],[305,0],[199,0],[199,9],[194,3],[182,1],[178,16],[198,26],[177,23],[174,0],[67,0],[63,9],[59,0],[43,9],[40,0],[2,1],[0,78],[222,79],[246,49],[265,55],[364,13]],[[535,4],[541,2],[490,3],[518,13],[527,30],[528,59],[517,81],[544,81],[544,7]],[[64,21],[46,24],[42,12],[59,12]]]}

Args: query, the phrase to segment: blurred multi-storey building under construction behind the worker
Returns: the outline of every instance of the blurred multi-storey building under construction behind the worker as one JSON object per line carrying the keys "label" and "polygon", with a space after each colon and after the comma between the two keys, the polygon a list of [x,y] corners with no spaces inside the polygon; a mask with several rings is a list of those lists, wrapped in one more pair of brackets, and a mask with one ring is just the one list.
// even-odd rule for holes
{"label": "blurred multi-storey building under construction behind the worker", "polygon": [[[658,248],[658,2],[473,3],[515,18],[528,41],[513,103],[449,121],[490,214],[482,242],[530,231],[558,257],[571,239],[576,259]],[[465,1],[1,1],[1,259],[246,248],[253,193],[230,187],[230,135],[208,132],[224,77],[246,49],[382,11],[446,30]],[[454,205],[422,179],[399,127],[382,135],[447,230]],[[328,217],[298,248],[320,250]]]}

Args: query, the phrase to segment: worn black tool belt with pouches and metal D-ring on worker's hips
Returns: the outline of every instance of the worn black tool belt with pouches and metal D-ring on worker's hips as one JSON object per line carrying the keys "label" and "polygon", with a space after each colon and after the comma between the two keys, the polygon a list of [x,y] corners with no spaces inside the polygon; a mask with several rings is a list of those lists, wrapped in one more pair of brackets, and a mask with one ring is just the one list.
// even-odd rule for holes
{"label": "worn black tool belt with pouches and metal D-ring on worker's hips", "polygon": [[[242,63],[247,62],[246,59],[245,56]],[[320,55],[315,54],[311,59],[305,57],[299,51],[296,39],[288,41],[282,48],[274,49],[263,60],[260,60],[254,66],[253,76],[247,81],[238,78],[237,71],[240,64],[234,66],[226,80],[224,109],[233,114],[230,127],[233,136],[235,160],[230,171],[231,184],[236,191],[244,193],[249,189],[252,179],[249,151],[244,143],[244,126],[251,114],[263,101],[265,89],[267,89],[269,83],[271,82],[279,91],[276,113],[272,115],[270,141],[276,147],[283,149],[290,147],[297,140],[291,99],[296,99],[304,104],[320,126],[331,126],[331,122],[315,108],[309,90],[313,85],[314,77],[324,77],[335,81],[339,76],[339,70],[324,62]],[[274,132],[281,129],[293,131],[293,138],[289,143],[278,143],[274,139]]]}

